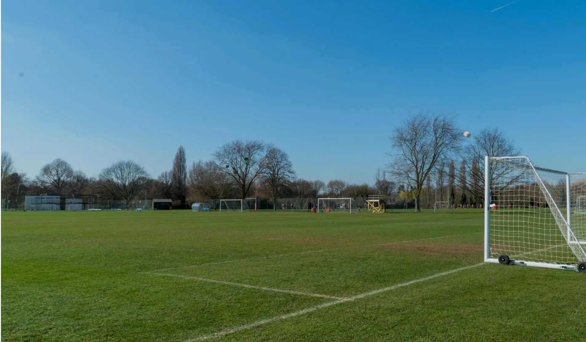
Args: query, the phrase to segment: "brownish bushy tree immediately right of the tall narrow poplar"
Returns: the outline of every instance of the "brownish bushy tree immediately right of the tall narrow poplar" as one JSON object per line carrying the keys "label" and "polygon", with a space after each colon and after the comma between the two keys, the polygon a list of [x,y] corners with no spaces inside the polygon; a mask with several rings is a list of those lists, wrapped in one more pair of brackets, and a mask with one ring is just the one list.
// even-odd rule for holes
{"label": "brownish bushy tree immediately right of the tall narrow poplar", "polygon": [[217,200],[230,190],[229,181],[213,161],[199,160],[189,168],[189,189],[192,197]]}

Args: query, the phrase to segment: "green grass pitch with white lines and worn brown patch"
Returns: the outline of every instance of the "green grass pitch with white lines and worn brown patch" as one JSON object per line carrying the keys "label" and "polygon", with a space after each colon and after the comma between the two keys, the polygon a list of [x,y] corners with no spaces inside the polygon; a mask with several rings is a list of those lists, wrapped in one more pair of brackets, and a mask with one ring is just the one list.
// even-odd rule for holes
{"label": "green grass pitch with white lines and worn brown patch", "polygon": [[584,341],[584,274],[453,214],[2,213],[2,341]]}

